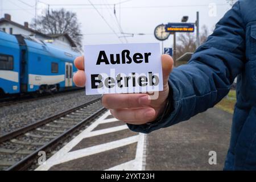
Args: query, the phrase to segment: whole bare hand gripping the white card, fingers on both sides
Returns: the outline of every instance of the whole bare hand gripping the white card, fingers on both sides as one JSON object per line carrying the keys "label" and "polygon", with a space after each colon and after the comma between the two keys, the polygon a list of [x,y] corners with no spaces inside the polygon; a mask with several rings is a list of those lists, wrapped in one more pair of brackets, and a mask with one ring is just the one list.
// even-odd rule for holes
{"label": "whole bare hand gripping the white card, fingers on both sides", "polygon": [[[77,86],[84,87],[86,82],[84,56],[77,57],[75,66],[79,71],[73,76]],[[174,60],[169,55],[162,55],[163,91],[154,93],[158,98],[151,100],[150,94],[105,94],[102,105],[120,121],[132,125],[142,125],[154,121],[163,114],[169,94],[168,78],[174,67]]]}

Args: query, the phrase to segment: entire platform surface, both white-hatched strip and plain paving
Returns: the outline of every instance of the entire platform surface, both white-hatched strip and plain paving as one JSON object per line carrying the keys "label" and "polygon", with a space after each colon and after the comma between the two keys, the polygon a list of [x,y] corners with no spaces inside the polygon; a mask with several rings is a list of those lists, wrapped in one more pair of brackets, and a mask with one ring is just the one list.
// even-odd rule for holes
{"label": "entire platform surface, both white-hatched strip and plain paving", "polygon": [[[36,170],[222,170],[232,114],[213,108],[178,125],[138,134],[107,111]],[[208,163],[217,152],[217,165]]]}

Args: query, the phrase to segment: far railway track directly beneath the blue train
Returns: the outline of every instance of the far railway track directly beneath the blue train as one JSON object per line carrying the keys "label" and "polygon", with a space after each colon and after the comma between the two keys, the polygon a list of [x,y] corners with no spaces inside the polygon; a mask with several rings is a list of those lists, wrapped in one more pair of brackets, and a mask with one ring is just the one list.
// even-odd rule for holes
{"label": "far railway track directly beneath the blue train", "polygon": [[43,94],[38,97],[32,97],[30,95],[25,95],[25,96],[20,96],[20,97],[1,98],[0,99],[0,107],[20,104],[23,102],[37,101],[37,100],[40,100],[43,98],[51,98],[51,97],[56,97],[56,95],[67,94],[69,92],[79,92],[79,91],[81,91],[81,89],[65,90],[65,91],[61,91],[61,92],[58,92],[53,95],[52,94]]}

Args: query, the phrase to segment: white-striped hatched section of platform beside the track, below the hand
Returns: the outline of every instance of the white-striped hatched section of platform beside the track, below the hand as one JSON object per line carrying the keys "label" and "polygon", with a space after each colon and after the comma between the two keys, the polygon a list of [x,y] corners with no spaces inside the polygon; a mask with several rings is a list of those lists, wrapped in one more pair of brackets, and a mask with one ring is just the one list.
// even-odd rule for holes
{"label": "white-striped hatched section of platform beside the track, below the hand", "polygon": [[109,111],[36,170],[144,170],[145,135]]}

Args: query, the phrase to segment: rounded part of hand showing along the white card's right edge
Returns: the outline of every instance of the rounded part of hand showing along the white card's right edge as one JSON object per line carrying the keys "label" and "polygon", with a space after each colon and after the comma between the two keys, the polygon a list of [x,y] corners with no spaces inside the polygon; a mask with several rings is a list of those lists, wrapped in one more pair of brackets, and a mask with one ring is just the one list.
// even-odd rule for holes
{"label": "rounded part of hand showing along the white card's right edge", "polygon": [[168,78],[174,68],[174,60],[170,55],[162,55],[163,84],[168,84]]}

